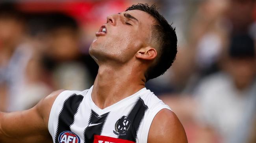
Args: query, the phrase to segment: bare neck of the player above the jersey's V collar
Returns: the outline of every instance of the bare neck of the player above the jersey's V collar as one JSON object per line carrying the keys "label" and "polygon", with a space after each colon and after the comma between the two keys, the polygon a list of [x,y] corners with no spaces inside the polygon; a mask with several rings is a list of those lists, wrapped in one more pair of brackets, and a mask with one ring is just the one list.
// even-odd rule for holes
{"label": "bare neck of the player above the jersey's V collar", "polygon": [[93,85],[93,102],[104,109],[145,87],[144,73],[132,67],[100,65]]}

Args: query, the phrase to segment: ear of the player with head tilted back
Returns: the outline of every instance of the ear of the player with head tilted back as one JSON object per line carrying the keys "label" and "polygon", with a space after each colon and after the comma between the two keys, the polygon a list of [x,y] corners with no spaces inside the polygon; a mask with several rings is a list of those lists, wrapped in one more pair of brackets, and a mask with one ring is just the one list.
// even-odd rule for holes
{"label": "ear of the player with head tilted back", "polygon": [[136,53],[136,58],[143,59],[143,60],[154,60],[156,58],[157,52],[156,49],[148,46],[139,49]]}

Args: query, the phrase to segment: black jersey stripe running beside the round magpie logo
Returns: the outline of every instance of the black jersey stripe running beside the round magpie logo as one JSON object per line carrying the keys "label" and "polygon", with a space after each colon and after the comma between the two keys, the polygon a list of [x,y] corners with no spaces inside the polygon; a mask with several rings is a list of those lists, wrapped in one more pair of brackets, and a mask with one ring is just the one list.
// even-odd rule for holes
{"label": "black jersey stripe running beside the round magpie logo", "polygon": [[144,101],[139,97],[126,118],[131,121],[131,127],[126,132],[126,135],[120,135],[118,138],[136,142],[137,132],[147,110],[148,106],[145,105]]}

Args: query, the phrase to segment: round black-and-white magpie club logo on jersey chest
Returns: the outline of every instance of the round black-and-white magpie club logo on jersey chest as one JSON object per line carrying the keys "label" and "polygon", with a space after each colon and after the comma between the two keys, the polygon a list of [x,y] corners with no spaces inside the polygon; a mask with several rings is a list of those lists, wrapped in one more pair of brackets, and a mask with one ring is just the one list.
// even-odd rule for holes
{"label": "round black-and-white magpie club logo on jersey chest", "polygon": [[126,132],[130,128],[130,125],[131,125],[131,121],[127,119],[126,116],[122,116],[115,123],[115,130],[113,130],[113,132],[118,136],[125,136]]}

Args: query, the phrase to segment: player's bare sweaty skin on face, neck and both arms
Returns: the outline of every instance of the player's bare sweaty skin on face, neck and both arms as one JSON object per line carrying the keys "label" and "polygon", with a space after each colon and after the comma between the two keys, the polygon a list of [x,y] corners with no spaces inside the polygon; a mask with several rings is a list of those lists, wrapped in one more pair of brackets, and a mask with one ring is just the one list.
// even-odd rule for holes
{"label": "player's bare sweaty skin on face, neck and both arms", "polygon": [[[137,20],[128,18],[125,13]],[[150,44],[154,18],[132,10],[107,17],[106,34],[96,34],[89,49],[99,65],[92,91],[94,103],[104,109],[145,87],[145,71],[154,62],[157,48]],[[35,107],[13,113],[0,112],[0,143],[52,143],[48,118],[55,91]],[[186,133],[176,115],[162,109],[152,121],[148,143],[187,143]]]}

